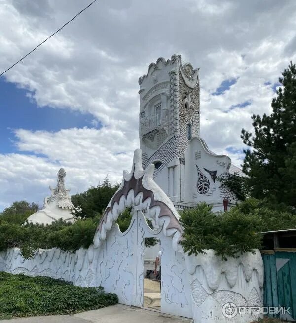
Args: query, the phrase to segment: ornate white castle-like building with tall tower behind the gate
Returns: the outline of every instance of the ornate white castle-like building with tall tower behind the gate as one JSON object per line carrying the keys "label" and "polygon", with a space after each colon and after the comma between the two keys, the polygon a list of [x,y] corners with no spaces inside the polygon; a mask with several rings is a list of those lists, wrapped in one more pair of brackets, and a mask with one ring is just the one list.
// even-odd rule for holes
{"label": "ornate white castle-like building with tall tower behind the gate", "polygon": [[181,55],[167,61],[160,57],[139,85],[143,168],[155,165],[154,180],[177,209],[201,201],[213,211],[234,205],[235,194],[222,183],[240,169],[200,138],[199,69],[184,63]]}

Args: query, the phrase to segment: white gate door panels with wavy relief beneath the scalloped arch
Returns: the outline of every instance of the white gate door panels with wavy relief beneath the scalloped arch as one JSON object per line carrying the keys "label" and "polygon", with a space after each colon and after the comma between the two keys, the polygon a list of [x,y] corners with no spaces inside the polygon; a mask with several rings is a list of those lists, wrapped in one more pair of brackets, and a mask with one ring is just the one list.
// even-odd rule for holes
{"label": "white gate door panels with wavy relief beneath the scalloped arch", "polygon": [[[172,238],[163,234],[162,228],[151,230],[141,211],[136,211],[126,232],[121,233],[113,225],[108,233],[97,267],[97,285],[106,292],[118,295],[119,303],[143,306],[144,301],[144,251],[145,238],[154,237],[161,241],[162,288],[161,312],[192,317],[189,279],[181,253],[172,248]],[[189,296],[189,297],[188,297]]]}

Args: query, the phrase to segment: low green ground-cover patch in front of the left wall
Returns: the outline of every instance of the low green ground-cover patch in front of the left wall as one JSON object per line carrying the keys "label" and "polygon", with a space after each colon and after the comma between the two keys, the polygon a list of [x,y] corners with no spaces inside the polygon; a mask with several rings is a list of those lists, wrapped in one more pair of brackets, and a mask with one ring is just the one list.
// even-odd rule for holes
{"label": "low green ground-cover patch in front of the left wall", "polygon": [[102,287],[79,287],[50,277],[0,272],[0,319],[69,314],[118,303]]}

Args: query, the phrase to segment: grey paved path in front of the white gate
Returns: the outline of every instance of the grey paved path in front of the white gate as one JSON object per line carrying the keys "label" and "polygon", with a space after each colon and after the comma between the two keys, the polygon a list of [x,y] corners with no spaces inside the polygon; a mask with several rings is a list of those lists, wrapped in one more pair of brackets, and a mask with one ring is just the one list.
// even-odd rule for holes
{"label": "grey paved path in front of the white gate", "polygon": [[191,323],[173,315],[116,304],[74,315],[51,315],[2,320],[1,323]]}

